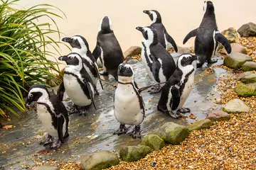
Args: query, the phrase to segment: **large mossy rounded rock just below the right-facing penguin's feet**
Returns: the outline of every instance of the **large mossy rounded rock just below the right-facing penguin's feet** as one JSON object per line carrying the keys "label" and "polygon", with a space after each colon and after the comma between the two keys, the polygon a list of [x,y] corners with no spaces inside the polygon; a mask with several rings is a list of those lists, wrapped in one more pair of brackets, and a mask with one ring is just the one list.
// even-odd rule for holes
{"label": "large mossy rounded rock just below the right-facing penguin's feet", "polygon": [[178,145],[189,135],[188,128],[176,123],[164,123],[159,130],[156,130],[156,135],[159,135],[166,143]]}

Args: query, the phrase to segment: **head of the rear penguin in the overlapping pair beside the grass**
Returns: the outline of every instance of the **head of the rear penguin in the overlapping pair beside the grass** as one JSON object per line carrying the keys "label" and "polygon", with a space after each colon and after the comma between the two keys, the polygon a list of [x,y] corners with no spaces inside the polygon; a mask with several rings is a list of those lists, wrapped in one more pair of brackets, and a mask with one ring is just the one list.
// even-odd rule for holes
{"label": "head of the rear penguin in the overlapping pair beside the grass", "polygon": [[63,42],[68,42],[71,47],[77,48],[78,50],[83,50],[87,52],[87,50],[89,49],[87,40],[81,35],[75,35],[71,38],[63,38],[62,40]]}

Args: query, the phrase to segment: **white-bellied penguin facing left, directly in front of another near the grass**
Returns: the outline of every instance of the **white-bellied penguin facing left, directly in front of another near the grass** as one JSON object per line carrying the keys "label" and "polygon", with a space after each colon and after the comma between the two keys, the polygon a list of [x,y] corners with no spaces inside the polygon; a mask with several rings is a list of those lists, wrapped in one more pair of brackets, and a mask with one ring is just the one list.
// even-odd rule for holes
{"label": "white-bellied penguin facing left, directly in front of another near the grass", "polygon": [[[67,63],[64,71],[63,84],[66,93],[74,103],[70,113],[80,111],[80,115],[86,115],[90,105],[93,104],[95,106],[93,101],[95,86],[92,78],[84,67],[83,63],[85,59],[78,53],[72,52],[69,55],[59,57],[58,60]],[[79,107],[81,109],[79,109]]]}

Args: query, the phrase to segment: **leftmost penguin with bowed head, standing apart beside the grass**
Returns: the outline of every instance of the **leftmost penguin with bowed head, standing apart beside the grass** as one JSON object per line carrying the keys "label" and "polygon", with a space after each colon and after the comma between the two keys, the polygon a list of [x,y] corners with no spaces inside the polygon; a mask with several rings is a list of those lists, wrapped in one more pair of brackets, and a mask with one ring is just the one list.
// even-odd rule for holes
{"label": "leftmost penguin with bowed head, standing apart beside the grass", "polygon": [[[28,89],[26,107],[36,101],[36,110],[48,137],[41,145],[50,145],[50,149],[58,149],[64,138],[68,137],[68,111],[56,94],[46,89],[46,86],[34,84]],[[58,140],[54,141],[54,138]]]}

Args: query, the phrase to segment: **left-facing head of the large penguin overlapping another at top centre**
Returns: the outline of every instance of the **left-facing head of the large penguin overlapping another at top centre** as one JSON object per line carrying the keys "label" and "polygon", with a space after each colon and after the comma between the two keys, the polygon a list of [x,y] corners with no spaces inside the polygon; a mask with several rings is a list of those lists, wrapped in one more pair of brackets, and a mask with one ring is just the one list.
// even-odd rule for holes
{"label": "left-facing head of the large penguin overlapping another at top centre", "polygon": [[153,27],[151,27],[151,26],[137,27],[136,29],[139,30],[140,32],[142,32],[144,40],[150,42],[151,44],[157,44],[158,43],[157,33],[156,33],[156,30]]}

